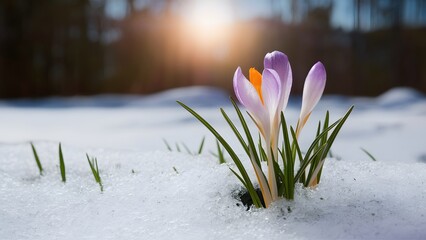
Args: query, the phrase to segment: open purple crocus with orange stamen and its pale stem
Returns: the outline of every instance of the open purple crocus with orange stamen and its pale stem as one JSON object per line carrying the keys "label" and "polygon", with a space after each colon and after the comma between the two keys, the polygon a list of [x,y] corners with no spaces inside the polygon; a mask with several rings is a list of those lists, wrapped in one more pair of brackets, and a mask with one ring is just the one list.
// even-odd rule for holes
{"label": "open purple crocus with orange stamen and its pale stem", "polygon": [[[247,80],[241,68],[238,67],[234,74],[234,91],[240,103],[249,111],[265,140],[268,155],[268,183],[271,199],[275,201],[278,198],[278,191],[272,154],[274,159],[277,159],[280,114],[287,106],[292,85],[291,67],[287,56],[278,51],[266,54],[262,74],[251,68],[249,79]],[[257,165],[253,161],[252,164]],[[259,184],[262,185],[261,181]]]}

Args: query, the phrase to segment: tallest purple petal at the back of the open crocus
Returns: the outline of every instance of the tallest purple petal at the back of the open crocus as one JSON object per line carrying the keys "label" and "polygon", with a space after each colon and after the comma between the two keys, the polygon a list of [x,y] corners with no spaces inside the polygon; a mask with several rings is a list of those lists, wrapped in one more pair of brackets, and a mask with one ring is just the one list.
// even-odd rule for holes
{"label": "tallest purple petal at the back of the open crocus", "polygon": [[287,55],[279,51],[267,53],[263,61],[265,68],[273,69],[278,73],[281,81],[281,98],[279,104],[279,111],[287,107],[290,90],[293,83],[293,76],[291,66],[288,61]]}

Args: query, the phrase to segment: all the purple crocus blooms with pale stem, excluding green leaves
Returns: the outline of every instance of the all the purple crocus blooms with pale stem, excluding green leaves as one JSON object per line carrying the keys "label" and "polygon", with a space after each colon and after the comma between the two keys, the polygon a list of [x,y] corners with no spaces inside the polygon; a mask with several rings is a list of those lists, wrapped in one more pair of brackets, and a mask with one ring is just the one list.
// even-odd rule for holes
{"label": "all the purple crocus blooms with pale stem, excluding green leaves", "polygon": [[[292,86],[291,66],[287,56],[279,51],[268,53],[264,59],[264,70],[260,74],[250,68],[249,79],[238,67],[234,74],[234,91],[238,100],[250,112],[265,141],[268,153],[268,183],[271,198],[278,198],[273,159],[278,159],[278,137],[280,132],[280,114],[287,106]],[[296,135],[306,124],[312,110],[318,103],[325,88],[326,72],[321,62],[317,62],[309,71],[303,89],[302,111]],[[273,155],[273,156],[271,156]],[[265,196],[264,196],[265,198]],[[267,201],[265,199],[265,201]]]}

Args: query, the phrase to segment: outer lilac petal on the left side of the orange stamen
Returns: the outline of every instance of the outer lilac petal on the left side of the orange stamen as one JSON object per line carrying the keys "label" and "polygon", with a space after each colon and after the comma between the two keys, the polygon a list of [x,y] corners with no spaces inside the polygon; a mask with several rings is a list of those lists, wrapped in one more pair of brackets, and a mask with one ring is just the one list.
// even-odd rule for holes
{"label": "outer lilac petal on the left side of the orange stamen", "polygon": [[269,136],[269,115],[254,86],[238,67],[234,74],[234,92],[238,101],[247,108],[264,136]]}

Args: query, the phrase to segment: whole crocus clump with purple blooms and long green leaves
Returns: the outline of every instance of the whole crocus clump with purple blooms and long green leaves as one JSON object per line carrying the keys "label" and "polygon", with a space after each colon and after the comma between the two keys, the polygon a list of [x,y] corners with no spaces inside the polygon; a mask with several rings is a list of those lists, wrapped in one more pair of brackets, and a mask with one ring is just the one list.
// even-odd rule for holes
{"label": "whole crocus clump with purple blooms and long green leaves", "polygon": [[[259,130],[262,138],[259,139],[259,144],[255,144],[243,114],[232,99],[231,101],[244,129],[245,139],[225,111],[221,109],[223,117],[251,161],[263,199],[257,195],[240,157],[234,152],[230,144],[198,113],[178,102],[203,123],[228,152],[239,173],[232,169],[231,171],[243,183],[256,207],[269,207],[272,202],[280,197],[293,199],[297,182],[302,183],[305,187],[313,187],[319,183],[327,153],[353,109],[351,107],[342,118],[332,124],[329,124],[329,113],[327,112],[322,126],[321,122],[318,124],[317,133],[310,147],[302,154],[298,144],[298,136],[324,92],[326,83],[324,65],[317,62],[306,77],[302,107],[295,130],[293,127],[287,126],[283,112],[288,103],[292,81],[292,71],[288,58],[279,51],[266,54],[262,73],[250,68],[249,79],[244,76],[240,67],[235,71],[233,79],[235,95],[248,110],[250,118]],[[283,137],[282,144],[279,144],[280,135]],[[296,159],[299,159],[300,164],[295,172]],[[262,170],[262,162],[267,164],[267,176]]]}

